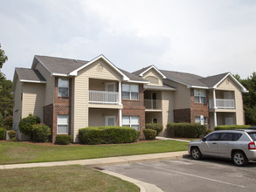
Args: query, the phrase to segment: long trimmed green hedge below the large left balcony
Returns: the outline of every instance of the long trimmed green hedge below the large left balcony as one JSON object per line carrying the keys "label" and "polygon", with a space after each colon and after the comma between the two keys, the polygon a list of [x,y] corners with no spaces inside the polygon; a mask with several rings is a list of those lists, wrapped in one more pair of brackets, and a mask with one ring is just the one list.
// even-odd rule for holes
{"label": "long trimmed green hedge below the large left balcony", "polygon": [[139,136],[138,131],[132,127],[86,127],[79,130],[80,142],[89,145],[131,143]]}

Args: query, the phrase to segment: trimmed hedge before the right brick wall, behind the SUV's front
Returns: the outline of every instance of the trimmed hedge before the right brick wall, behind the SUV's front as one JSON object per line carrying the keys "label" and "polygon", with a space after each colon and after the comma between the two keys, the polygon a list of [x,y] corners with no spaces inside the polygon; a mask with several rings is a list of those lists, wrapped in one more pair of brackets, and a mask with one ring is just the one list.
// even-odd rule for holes
{"label": "trimmed hedge before the right brick wall, behind the SUV's front", "polygon": [[[205,133],[205,125],[203,130]],[[202,126],[198,123],[169,123],[167,131],[170,137],[198,138],[202,134]]]}

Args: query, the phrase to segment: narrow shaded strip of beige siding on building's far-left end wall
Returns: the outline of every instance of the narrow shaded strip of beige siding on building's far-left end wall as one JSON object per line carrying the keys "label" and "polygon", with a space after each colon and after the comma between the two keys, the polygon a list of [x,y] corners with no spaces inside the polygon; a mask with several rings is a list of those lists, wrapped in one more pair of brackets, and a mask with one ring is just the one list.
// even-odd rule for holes
{"label": "narrow shaded strip of beige siding on building's far-left end wall", "polygon": [[16,124],[16,127],[19,123],[22,114],[21,86],[22,83],[20,83],[19,79],[17,79],[16,86],[14,89],[15,105],[13,106],[13,126],[14,124]]}

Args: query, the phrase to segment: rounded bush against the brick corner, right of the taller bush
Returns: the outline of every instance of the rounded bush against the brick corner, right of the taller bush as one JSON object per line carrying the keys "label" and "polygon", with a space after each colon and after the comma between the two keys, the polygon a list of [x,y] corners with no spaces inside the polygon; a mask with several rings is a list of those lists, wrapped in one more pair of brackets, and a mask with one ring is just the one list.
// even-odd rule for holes
{"label": "rounded bush against the brick corner, right of the taller bush", "polygon": [[32,129],[33,141],[35,142],[48,142],[51,133],[51,128],[44,124],[33,125]]}

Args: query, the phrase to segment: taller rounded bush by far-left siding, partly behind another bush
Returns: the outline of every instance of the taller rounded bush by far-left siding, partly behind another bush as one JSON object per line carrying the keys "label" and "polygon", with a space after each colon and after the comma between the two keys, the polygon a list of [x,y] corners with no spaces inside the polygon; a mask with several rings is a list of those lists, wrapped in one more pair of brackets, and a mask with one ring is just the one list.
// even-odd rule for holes
{"label": "taller rounded bush by far-left siding, partly behind another bush", "polygon": [[20,120],[18,128],[21,133],[32,136],[33,125],[40,123],[38,116],[29,114],[29,116]]}

